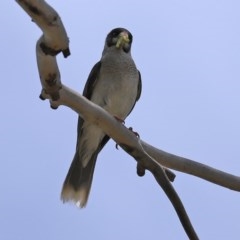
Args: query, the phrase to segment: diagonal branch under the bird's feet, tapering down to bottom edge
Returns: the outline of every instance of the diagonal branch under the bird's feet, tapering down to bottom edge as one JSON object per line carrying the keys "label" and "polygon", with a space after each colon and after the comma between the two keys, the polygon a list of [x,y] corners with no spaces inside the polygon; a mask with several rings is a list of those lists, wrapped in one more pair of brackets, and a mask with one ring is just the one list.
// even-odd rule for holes
{"label": "diagonal branch under the bird's feet, tapering down to bottom edge", "polygon": [[50,100],[52,106],[58,107],[59,105],[64,105],[70,107],[78,114],[81,114],[85,121],[99,126],[129,153],[138,164],[153,174],[156,181],[173,204],[188,237],[190,239],[198,239],[187,212],[178,194],[169,182],[163,167],[144,150],[141,140],[104,109],[68,87],[63,85],[62,89],[59,90],[59,96],[58,101]]}

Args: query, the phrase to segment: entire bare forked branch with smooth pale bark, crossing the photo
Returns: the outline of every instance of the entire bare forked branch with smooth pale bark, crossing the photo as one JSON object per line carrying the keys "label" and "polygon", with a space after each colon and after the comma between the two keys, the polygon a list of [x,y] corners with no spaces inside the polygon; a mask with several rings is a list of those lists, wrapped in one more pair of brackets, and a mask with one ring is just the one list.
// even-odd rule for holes
{"label": "entire bare forked branch with smooth pale bark, crossing the photo", "polygon": [[70,55],[70,50],[67,33],[59,15],[43,0],[16,0],[16,2],[43,31],[36,46],[38,70],[43,87],[40,98],[50,99],[51,107],[54,109],[60,105],[67,106],[80,114],[85,121],[102,128],[138,162],[139,171],[147,169],[154,175],[173,204],[188,237],[198,239],[180,198],[165,174],[164,167],[188,173],[236,191],[240,191],[240,178],[149,145],[137,138],[105,110],[63,85],[56,55],[62,52],[64,57],[67,57]]}

